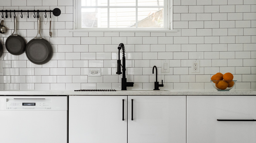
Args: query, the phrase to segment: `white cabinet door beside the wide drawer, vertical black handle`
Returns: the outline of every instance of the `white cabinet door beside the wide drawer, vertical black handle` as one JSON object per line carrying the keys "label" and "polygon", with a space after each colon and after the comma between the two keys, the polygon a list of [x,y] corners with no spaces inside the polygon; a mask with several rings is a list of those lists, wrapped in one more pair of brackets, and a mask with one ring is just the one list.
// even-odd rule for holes
{"label": "white cabinet door beside the wide drawer, vertical black handle", "polygon": [[185,142],[186,96],[128,96],[128,143]]}

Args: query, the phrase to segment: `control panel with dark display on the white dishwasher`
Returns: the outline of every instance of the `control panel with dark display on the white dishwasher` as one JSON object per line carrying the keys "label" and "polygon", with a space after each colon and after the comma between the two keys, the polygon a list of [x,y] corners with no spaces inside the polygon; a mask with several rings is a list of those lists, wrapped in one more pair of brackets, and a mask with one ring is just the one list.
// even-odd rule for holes
{"label": "control panel with dark display on the white dishwasher", "polygon": [[6,102],[7,110],[45,110],[51,109],[49,99],[8,99]]}

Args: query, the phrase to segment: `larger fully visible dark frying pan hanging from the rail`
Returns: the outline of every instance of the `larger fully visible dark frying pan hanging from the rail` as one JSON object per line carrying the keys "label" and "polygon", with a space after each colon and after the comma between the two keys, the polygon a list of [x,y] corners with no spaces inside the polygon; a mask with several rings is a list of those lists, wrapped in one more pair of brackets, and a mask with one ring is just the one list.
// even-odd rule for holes
{"label": "larger fully visible dark frying pan hanging from the rail", "polygon": [[[53,56],[52,45],[40,34],[40,16],[37,18],[38,31],[34,39],[30,40],[26,46],[27,58],[34,64],[45,64]],[[37,36],[40,35],[38,38]]]}

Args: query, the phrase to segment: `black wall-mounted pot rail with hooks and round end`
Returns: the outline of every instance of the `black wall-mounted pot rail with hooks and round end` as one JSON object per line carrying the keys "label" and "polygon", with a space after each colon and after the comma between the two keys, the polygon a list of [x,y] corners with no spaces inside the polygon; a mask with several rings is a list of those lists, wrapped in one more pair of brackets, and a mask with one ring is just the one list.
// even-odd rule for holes
{"label": "black wall-mounted pot rail with hooks and round end", "polygon": [[15,12],[20,12],[21,13],[20,17],[21,18],[23,18],[23,15],[22,15],[23,12],[28,13],[28,18],[29,18],[29,12],[34,12],[34,15],[33,15],[34,18],[38,18],[39,12],[44,12],[45,13],[44,17],[45,18],[47,17],[46,12],[50,12],[50,18],[52,18],[51,13],[53,13],[54,16],[59,16],[60,13],[61,13],[59,8],[54,8],[53,10],[1,10],[1,12],[2,12],[2,15],[1,15],[2,18],[4,18],[4,16],[5,16],[5,18],[8,18],[8,12],[10,12],[10,18],[11,18],[11,13],[12,12],[14,13],[14,16],[16,16]]}

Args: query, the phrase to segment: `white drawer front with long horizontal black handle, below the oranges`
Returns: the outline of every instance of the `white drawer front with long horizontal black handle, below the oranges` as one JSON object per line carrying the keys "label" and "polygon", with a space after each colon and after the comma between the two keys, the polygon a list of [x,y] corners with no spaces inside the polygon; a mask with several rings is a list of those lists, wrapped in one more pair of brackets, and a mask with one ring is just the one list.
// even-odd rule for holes
{"label": "white drawer front with long horizontal black handle, below the oranges", "polygon": [[187,96],[187,143],[256,143],[256,96]]}

